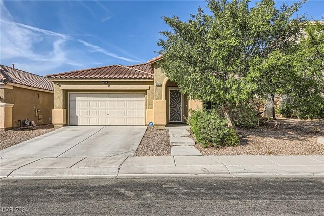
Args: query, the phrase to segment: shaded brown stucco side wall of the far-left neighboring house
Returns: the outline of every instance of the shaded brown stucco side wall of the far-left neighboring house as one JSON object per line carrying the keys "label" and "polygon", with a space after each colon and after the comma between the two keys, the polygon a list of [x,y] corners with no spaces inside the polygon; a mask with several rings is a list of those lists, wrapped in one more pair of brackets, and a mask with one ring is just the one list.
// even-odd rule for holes
{"label": "shaded brown stucco side wall of the far-left neighboring house", "polygon": [[[52,123],[53,93],[14,86],[4,90],[4,103],[14,104],[12,108],[12,127],[17,127],[18,120],[26,118],[36,125]],[[40,109],[42,119],[35,116],[35,109]]]}

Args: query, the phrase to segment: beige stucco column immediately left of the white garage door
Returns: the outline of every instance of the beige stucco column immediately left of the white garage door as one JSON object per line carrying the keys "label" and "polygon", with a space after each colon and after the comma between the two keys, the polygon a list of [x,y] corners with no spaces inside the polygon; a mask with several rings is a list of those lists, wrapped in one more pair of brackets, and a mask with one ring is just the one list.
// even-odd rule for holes
{"label": "beige stucco column immediately left of the white garage door", "polygon": [[66,96],[65,90],[54,83],[54,109],[52,111],[53,124],[55,128],[66,125]]}

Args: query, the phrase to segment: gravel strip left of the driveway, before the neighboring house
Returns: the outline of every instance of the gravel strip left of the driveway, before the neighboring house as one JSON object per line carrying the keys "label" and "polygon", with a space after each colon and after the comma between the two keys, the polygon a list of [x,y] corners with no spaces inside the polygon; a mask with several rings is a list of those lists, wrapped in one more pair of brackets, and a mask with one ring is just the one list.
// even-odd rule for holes
{"label": "gravel strip left of the driveway, before the neighboring house", "polygon": [[54,130],[53,124],[46,124],[39,125],[39,127],[34,130],[21,130],[19,128],[14,128],[12,130],[0,131],[0,150]]}

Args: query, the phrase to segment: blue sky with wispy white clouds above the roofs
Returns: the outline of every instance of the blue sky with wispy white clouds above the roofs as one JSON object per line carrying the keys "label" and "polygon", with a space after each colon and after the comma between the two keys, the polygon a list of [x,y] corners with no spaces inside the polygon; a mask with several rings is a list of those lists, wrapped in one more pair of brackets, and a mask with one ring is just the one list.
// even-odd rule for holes
{"label": "blue sky with wispy white clouds above the roofs", "polygon": [[[277,1],[277,5],[292,1]],[[0,63],[46,75],[146,62],[159,51],[163,16],[187,20],[205,1],[1,1]],[[324,1],[299,14],[321,19]],[[206,9],[207,10],[207,9]]]}

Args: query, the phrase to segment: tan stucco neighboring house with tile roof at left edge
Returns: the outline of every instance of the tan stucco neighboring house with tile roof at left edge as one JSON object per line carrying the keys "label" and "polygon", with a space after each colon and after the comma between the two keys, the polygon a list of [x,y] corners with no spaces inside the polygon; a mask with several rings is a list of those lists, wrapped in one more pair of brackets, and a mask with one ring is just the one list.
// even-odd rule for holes
{"label": "tan stucco neighboring house with tile roof at left edge", "polygon": [[36,125],[52,123],[52,109],[51,81],[0,65],[0,129],[20,126],[18,121],[25,119],[35,121]]}

